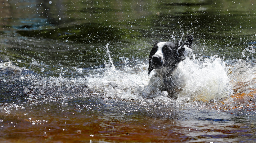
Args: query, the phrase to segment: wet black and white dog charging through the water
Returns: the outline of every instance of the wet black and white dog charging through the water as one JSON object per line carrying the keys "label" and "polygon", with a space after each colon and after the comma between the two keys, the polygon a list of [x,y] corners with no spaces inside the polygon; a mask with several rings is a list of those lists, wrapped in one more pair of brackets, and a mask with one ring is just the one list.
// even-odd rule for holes
{"label": "wet black and white dog charging through the water", "polygon": [[[149,55],[148,74],[155,69],[155,77],[160,78],[159,89],[168,92],[168,97],[175,98],[173,93],[176,90],[176,85],[173,82],[172,74],[178,63],[185,59],[187,50],[191,50],[193,37],[185,36],[187,40],[174,42],[159,42],[156,43]],[[152,78],[151,78],[152,79]],[[152,83],[153,81],[150,82]]]}

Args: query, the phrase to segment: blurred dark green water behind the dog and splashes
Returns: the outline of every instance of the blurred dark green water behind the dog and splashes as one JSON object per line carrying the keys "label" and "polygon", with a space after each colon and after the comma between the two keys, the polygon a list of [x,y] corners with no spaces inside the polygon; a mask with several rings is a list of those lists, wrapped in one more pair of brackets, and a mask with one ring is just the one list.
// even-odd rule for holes
{"label": "blurred dark green water behind the dog and splashes", "polygon": [[1,58],[13,62],[19,59],[16,63],[22,66],[34,59],[63,68],[67,64],[82,68],[100,66],[106,43],[110,43],[115,61],[119,57],[147,59],[155,40],[178,40],[182,35],[194,36],[194,45],[198,45],[194,51],[198,55],[254,61],[249,52],[242,54],[256,40],[254,1],[0,3]]}

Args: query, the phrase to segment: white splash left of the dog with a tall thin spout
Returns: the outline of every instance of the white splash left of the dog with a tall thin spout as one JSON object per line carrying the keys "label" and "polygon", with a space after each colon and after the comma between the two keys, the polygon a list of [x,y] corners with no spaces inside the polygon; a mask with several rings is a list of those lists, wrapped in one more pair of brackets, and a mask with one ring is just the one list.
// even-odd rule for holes
{"label": "white splash left of the dog with a tall thin spout", "polygon": [[105,71],[102,76],[94,75],[86,78],[88,87],[96,92],[103,93],[105,97],[108,98],[139,98],[139,93],[141,93],[142,90],[140,84],[143,85],[143,80],[138,80],[138,75],[116,70],[110,56],[108,45],[109,44],[106,44],[106,52],[109,55],[109,63],[106,63]]}

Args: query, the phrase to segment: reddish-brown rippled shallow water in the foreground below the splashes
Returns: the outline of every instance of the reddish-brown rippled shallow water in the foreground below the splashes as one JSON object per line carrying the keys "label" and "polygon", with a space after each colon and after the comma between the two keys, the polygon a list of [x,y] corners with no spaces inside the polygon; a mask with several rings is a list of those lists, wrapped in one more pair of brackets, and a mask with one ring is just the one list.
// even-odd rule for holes
{"label": "reddish-brown rippled shallow water in the foreground below the splashes", "polygon": [[[236,93],[234,106],[205,103],[174,107],[169,115],[83,114],[74,107],[63,111],[43,105],[1,112],[1,142],[240,142],[255,137],[255,124],[243,118],[255,113],[254,92]],[[248,98],[249,100],[242,100]],[[249,101],[249,102],[248,102]],[[136,104],[130,102],[130,104]],[[2,104],[2,108],[6,105]],[[52,105],[54,106],[54,105]],[[33,107],[30,109],[30,107]],[[39,110],[39,108],[41,108]],[[61,107],[60,107],[61,108]],[[120,108],[120,107],[116,107]],[[35,110],[36,109],[36,110]],[[191,110],[191,111],[190,111]],[[131,112],[134,112],[131,110]],[[136,112],[136,111],[135,111]],[[186,114],[186,115],[183,115]],[[189,115],[191,114],[191,115]],[[213,118],[201,118],[207,114]],[[162,116],[162,117],[161,117]],[[198,117],[196,117],[198,116]],[[232,119],[233,118],[233,119]],[[236,119],[237,118],[237,119]],[[188,120],[184,120],[188,119]],[[233,121],[232,121],[233,120]],[[250,119],[249,119],[250,120]],[[238,138],[239,137],[239,138]],[[255,141],[253,139],[253,141]]]}

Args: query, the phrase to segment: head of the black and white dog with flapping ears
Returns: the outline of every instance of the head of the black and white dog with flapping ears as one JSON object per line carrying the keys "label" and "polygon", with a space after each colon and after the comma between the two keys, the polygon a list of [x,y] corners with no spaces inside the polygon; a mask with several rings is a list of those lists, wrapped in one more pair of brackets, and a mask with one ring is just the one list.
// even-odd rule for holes
{"label": "head of the black and white dog with flapping ears", "polygon": [[148,74],[153,69],[161,69],[163,67],[176,68],[177,64],[184,58],[185,45],[191,47],[193,42],[192,36],[186,36],[187,40],[181,42],[159,42],[156,43],[149,55]]}

